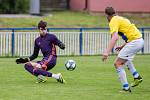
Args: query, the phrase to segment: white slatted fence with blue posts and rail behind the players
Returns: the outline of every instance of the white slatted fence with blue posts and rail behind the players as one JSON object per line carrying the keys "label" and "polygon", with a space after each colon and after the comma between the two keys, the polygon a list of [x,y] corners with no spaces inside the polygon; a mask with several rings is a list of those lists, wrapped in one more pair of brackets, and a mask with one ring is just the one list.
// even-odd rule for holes
{"label": "white slatted fence with blue posts and rail behind the players", "polygon": [[[144,48],[140,53],[150,53],[150,28],[139,29],[145,40]],[[0,28],[0,56],[31,55],[34,40],[39,36],[39,33],[33,30],[35,31],[36,28]],[[48,28],[48,30],[66,44],[65,50],[57,48],[58,55],[102,54],[110,40],[108,28]],[[119,40],[117,45],[122,42]]]}

